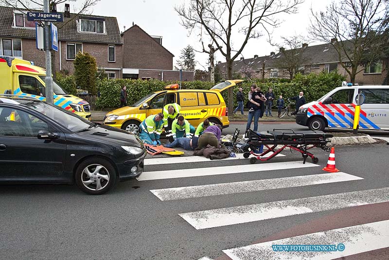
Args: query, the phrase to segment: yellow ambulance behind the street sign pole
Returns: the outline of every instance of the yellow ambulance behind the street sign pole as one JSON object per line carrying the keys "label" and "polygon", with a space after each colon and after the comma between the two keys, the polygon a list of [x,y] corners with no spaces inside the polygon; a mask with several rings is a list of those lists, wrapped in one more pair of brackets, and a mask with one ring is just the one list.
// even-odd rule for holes
{"label": "yellow ambulance behind the street sign pole", "polygon": [[[0,56],[0,94],[31,96],[46,101],[46,70],[34,66],[30,61]],[[90,120],[88,102],[67,94],[57,83],[53,82],[54,104],[80,117]]]}

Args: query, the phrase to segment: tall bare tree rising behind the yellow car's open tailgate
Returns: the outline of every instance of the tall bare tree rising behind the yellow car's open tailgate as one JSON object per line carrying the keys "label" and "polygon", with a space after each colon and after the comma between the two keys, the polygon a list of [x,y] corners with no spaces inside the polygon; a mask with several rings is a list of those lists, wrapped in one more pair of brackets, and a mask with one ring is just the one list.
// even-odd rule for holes
{"label": "tall bare tree rising behind the yellow car's open tailgate", "polygon": [[[191,0],[189,5],[176,6],[182,25],[190,32],[202,26],[219,52],[226,58],[227,77],[232,78],[232,63],[245,48],[248,40],[263,36],[270,38],[270,29],[277,27],[280,15],[294,13],[303,0]],[[232,39],[245,35],[240,44]],[[235,50],[233,46],[237,47]],[[234,54],[233,54],[234,53]],[[229,89],[228,107],[233,109],[233,92]]]}

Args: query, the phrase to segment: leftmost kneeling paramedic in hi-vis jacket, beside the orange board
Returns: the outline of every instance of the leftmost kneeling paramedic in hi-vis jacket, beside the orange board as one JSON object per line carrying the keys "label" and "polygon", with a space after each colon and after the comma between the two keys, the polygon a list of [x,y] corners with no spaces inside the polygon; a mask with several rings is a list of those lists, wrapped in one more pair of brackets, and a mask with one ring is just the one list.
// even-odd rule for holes
{"label": "leftmost kneeling paramedic in hi-vis jacket, beside the orange board", "polygon": [[141,122],[140,125],[141,134],[139,137],[144,143],[148,144],[161,144],[159,138],[162,133],[163,126],[163,114],[158,113],[158,115],[148,116],[145,120]]}

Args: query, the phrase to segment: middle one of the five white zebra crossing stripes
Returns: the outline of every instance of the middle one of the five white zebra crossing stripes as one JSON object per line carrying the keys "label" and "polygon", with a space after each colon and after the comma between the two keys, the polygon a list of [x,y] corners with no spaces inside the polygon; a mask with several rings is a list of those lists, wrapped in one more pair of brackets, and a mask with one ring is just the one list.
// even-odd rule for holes
{"label": "middle one of the five white zebra crossing stripes", "polygon": [[290,187],[300,187],[308,185],[318,185],[324,183],[334,183],[342,181],[363,180],[347,173],[321,173],[305,176],[294,176],[275,179],[263,179],[254,181],[240,181],[230,183],[219,183],[210,185],[199,185],[189,187],[178,187],[169,189],[151,190],[160,200],[177,200],[197,197],[207,197],[215,195],[234,194],[250,191],[264,191],[273,189],[283,189]]}

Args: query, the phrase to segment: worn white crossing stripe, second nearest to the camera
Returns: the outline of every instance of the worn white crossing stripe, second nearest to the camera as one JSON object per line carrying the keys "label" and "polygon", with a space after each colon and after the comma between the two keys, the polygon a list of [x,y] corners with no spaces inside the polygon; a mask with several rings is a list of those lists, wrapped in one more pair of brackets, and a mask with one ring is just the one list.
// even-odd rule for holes
{"label": "worn white crossing stripe, second nearest to the camera", "polygon": [[389,188],[383,188],[195,211],[178,215],[196,229],[204,229],[388,201]]}

